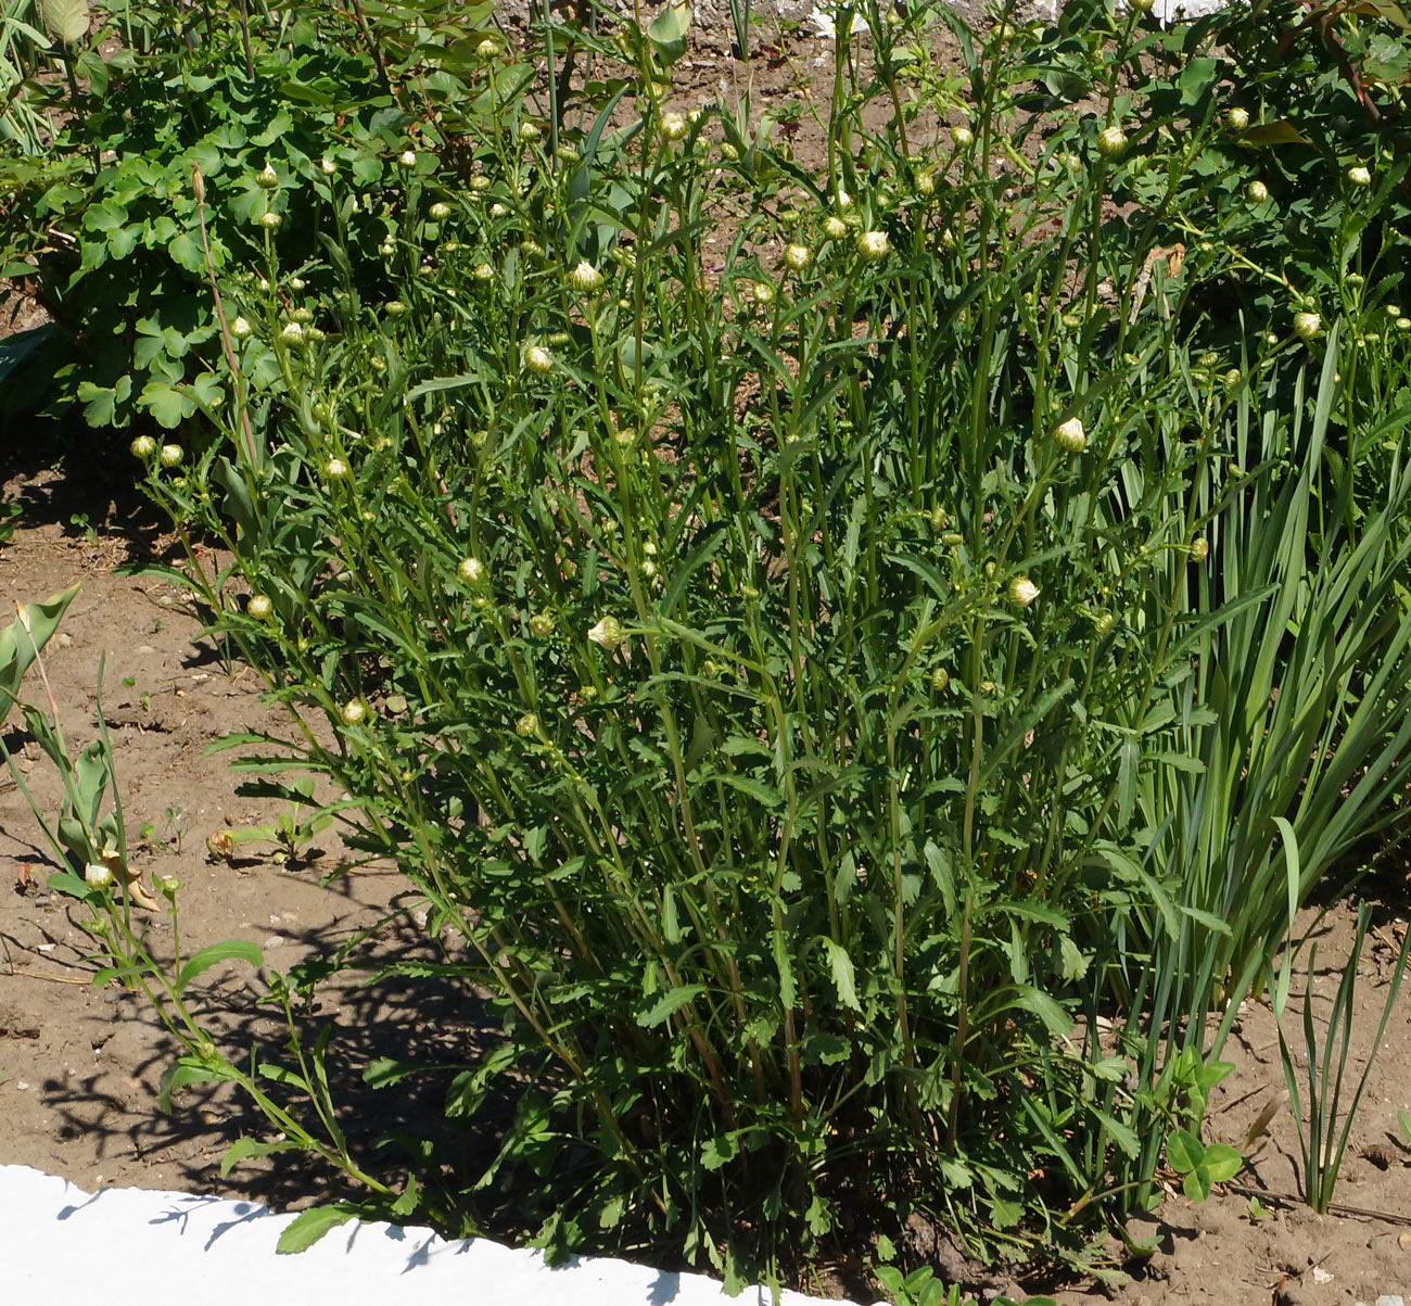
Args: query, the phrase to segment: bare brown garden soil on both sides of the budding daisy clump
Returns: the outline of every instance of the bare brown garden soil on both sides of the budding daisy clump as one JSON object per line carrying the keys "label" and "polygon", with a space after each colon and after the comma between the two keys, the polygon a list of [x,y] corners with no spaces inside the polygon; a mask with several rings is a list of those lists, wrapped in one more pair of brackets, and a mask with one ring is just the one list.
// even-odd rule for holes
{"label": "bare brown garden soil on both sides of the budding daisy clump", "polygon": [[[230,754],[207,757],[206,745],[226,731],[277,729],[278,720],[261,703],[254,673],[226,665],[168,583],[120,570],[171,545],[140,503],[113,503],[78,474],[32,470],[10,479],[4,500],[23,504],[24,515],[14,538],[0,545],[0,593],[34,601],[82,582],[45,657],[49,683],[71,740],[82,743],[95,729],[93,689],[106,654],[104,709],[128,829],[151,826],[148,837],[135,840],[135,861],[148,877],[179,878],[183,947],[248,939],[279,970],[360,930],[373,930],[365,953],[378,961],[425,949],[406,916],[384,921],[402,888],[392,867],[356,865],[329,878],[351,858],[333,830],[299,860],[279,860],[274,841],[244,843],[231,861],[207,854],[212,833],[270,822],[281,805],[241,795],[243,777],[229,769]],[[25,744],[16,720],[6,730],[25,782],[41,802],[52,803],[58,791],[47,762]],[[51,854],[18,786],[0,785],[0,1163],[35,1166],[89,1190],[178,1189],[281,1209],[339,1190],[337,1176],[310,1169],[302,1158],[243,1163],[223,1178],[227,1145],[243,1132],[265,1134],[262,1118],[230,1091],[181,1090],[172,1114],[157,1110],[157,1082],[174,1045],[144,1001],[90,983],[96,966],[76,923],[79,909],[48,892]],[[1379,887],[1384,904],[1360,961],[1352,1074],[1360,1073],[1376,1034],[1407,929],[1404,873],[1383,875]],[[1350,946],[1352,915],[1339,905],[1314,926],[1321,1035]],[[157,946],[169,946],[171,922],[155,916],[151,928]],[[199,1002],[233,1052],[250,1041],[265,1048],[282,1041],[278,1011],[251,1004],[255,990],[247,969],[217,967],[198,983]],[[1297,1021],[1297,997],[1292,1007]],[[361,1070],[371,1056],[464,1058],[484,1038],[473,1000],[423,990],[413,995],[395,981],[370,990],[353,983],[329,987],[322,1010],[309,1015],[310,1022],[327,1019],[336,1025],[330,1063],[354,1146],[396,1124],[387,1115],[394,1097],[404,1113],[423,1106],[368,1094]],[[1292,1024],[1290,1032],[1301,1045],[1298,1028]],[[1215,1094],[1206,1139],[1239,1146],[1266,1104],[1283,1093],[1267,1005],[1247,1005],[1226,1055],[1236,1070]],[[435,1121],[436,1103],[425,1107]],[[1397,1125],[1397,1113],[1408,1110],[1411,987],[1387,1025],[1352,1130],[1339,1211],[1316,1216],[1297,1200],[1298,1142],[1288,1107],[1280,1107],[1237,1183],[1204,1204],[1173,1194],[1157,1216],[1132,1221],[1132,1238],[1153,1251],[1147,1259],[1129,1259],[1133,1276],[1115,1298],[1146,1306],[1340,1306],[1411,1296],[1411,1146]],[[1120,1255],[1116,1244],[1112,1251]],[[859,1248],[859,1264],[865,1257]],[[842,1290],[844,1281],[827,1274],[803,1286],[827,1290],[835,1282]],[[849,1296],[866,1296],[865,1281],[852,1278],[845,1286]],[[1020,1285],[1009,1290],[1022,1295]],[[1096,1285],[1057,1290],[1064,1306],[1096,1295]]]}

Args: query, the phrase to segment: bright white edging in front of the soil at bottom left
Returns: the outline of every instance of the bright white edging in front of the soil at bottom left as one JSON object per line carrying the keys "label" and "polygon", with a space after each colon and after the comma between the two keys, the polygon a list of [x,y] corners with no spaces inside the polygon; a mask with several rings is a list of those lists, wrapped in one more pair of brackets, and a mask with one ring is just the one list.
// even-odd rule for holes
{"label": "bright white edging in front of the soil at bottom left", "polygon": [[[576,1258],[429,1228],[350,1221],[308,1251],[275,1255],[293,1218],[253,1202],[145,1189],[86,1193],[0,1165],[0,1299],[103,1306],[722,1306],[715,1279]],[[734,1299],[770,1306],[765,1288]],[[780,1306],[823,1306],[785,1292]],[[852,1306],[830,1302],[827,1306]]]}

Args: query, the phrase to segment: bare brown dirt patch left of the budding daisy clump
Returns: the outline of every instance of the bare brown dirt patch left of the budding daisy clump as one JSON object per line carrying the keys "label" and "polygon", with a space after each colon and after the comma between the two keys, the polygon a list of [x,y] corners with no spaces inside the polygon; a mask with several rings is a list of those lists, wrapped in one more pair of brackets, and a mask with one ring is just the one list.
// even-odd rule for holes
{"label": "bare brown dirt patch left of the budding daisy clump", "polygon": [[[310,953],[332,953],[371,932],[357,954],[368,964],[429,956],[412,919],[387,919],[405,885],[388,865],[344,871],[353,854],[336,827],[302,846],[298,857],[286,857],[274,837],[243,841],[229,860],[207,853],[206,840],[217,830],[247,832],[291,812],[288,803],[237,792],[248,777],[230,771],[233,754],[205,755],[227,731],[278,731],[278,721],[268,717],[254,675],[240,665],[227,669],[166,582],[117,573],[124,562],[162,552],[168,541],[154,524],[134,504],[95,497],[92,487],[75,493],[51,473],[11,480],[4,498],[23,504],[24,515],[11,542],[0,545],[0,594],[34,601],[82,582],[45,651],[45,669],[73,750],[96,734],[95,685],[106,654],[103,707],[133,863],[148,882],[154,875],[179,880],[183,953],[247,939],[261,946],[268,967],[288,971]],[[42,695],[32,672],[25,690]],[[52,813],[59,802],[52,765],[27,741],[17,713],[4,729],[24,784]],[[83,909],[48,892],[54,870],[20,786],[0,774],[0,1162],[32,1165],[87,1189],[202,1189],[285,1206],[337,1189],[337,1176],[310,1170],[302,1158],[284,1166],[250,1162],[222,1180],[219,1163],[234,1138],[270,1137],[264,1118],[231,1091],[178,1090],[171,1115],[157,1110],[158,1080],[175,1043],[143,997],[116,984],[92,986],[96,964],[76,923]],[[152,950],[169,956],[171,919],[144,919]],[[262,1055],[285,1059],[282,1011],[253,1004],[264,988],[257,990],[248,967],[219,966],[195,987],[196,1008],[209,1014],[231,1052],[260,1046]],[[389,1111],[405,1115],[428,1106],[401,1090],[367,1090],[361,1074],[368,1060],[473,1056],[480,1015],[474,1001],[456,994],[437,998],[418,984],[413,1000],[395,978],[368,990],[354,974],[327,986],[316,1008],[299,1011],[298,1019],[309,1039],[330,1019],[337,1026],[329,1073],[350,1139],[360,1146],[398,1125]]]}

